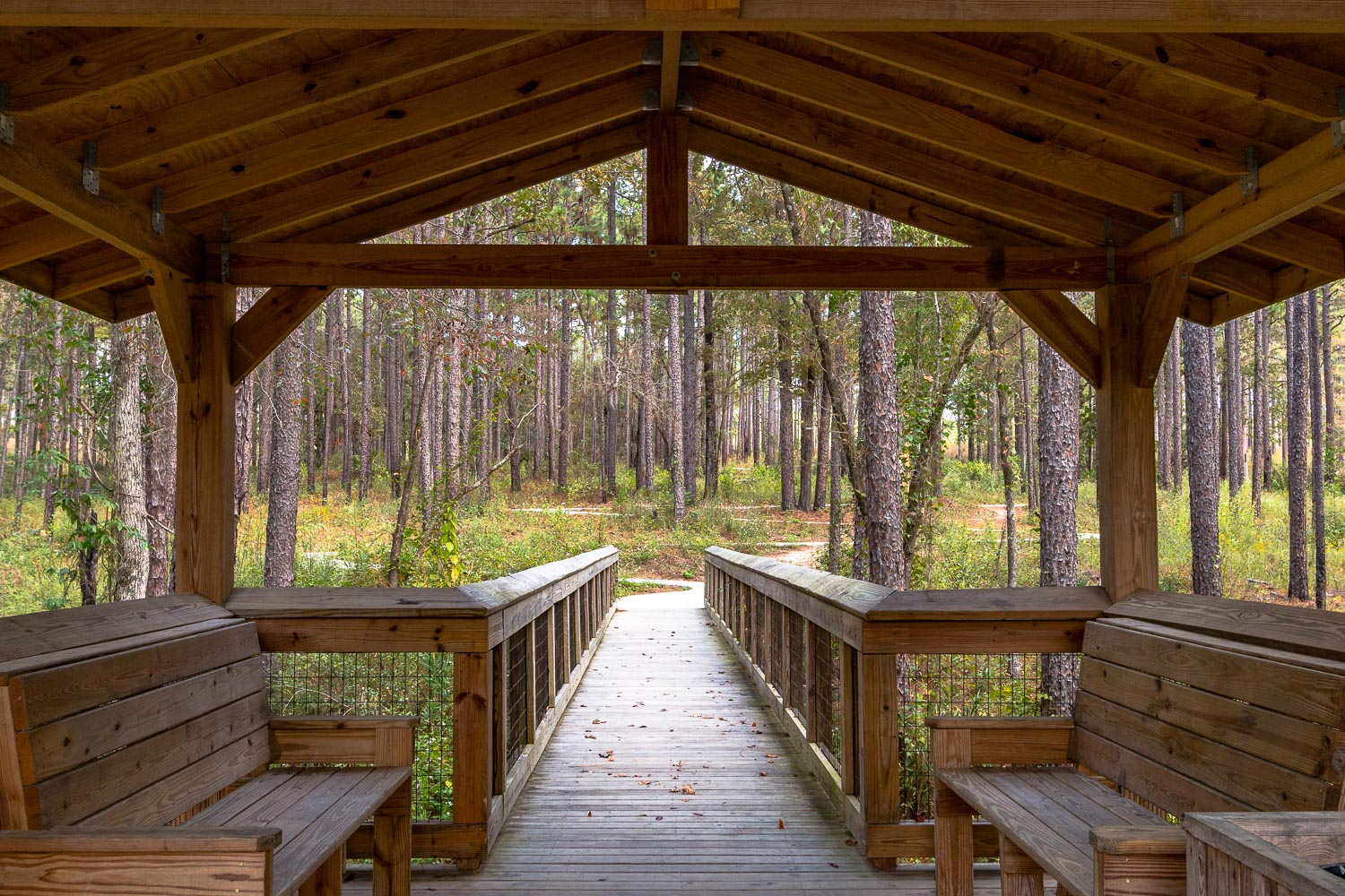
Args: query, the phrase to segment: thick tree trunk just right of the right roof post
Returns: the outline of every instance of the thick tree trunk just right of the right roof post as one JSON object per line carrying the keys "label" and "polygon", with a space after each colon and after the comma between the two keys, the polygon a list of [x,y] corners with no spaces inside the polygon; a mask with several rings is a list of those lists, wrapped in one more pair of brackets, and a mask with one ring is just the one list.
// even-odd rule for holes
{"label": "thick tree trunk just right of the right roof post", "polygon": [[1190,580],[1196,594],[1221,595],[1219,568],[1219,443],[1215,422],[1215,332],[1182,321],[1186,367],[1186,458],[1190,467]]}

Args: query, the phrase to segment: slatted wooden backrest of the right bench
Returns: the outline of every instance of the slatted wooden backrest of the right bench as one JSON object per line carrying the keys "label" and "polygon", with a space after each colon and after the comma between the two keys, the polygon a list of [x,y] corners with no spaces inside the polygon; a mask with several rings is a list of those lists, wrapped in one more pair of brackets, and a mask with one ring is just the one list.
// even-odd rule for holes
{"label": "slatted wooden backrest of the right bench", "polygon": [[1345,614],[1143,592],[1088,623],[1071,758],[1163,811],[1341,803]]}

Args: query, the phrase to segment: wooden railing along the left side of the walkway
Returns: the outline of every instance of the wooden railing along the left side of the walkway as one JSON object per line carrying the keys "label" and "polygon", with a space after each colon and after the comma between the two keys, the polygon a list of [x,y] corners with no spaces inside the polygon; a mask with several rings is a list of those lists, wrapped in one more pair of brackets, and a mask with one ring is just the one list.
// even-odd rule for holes
{"label": "wooden railing along the left side of the walkway", "polygon": [[[473,868],[490,852],[612,618],[616,548],[456,588],[237,588],[269,653],[452,654],[452,819],[412,853]],[[418,744],[418,756],[420,760]],[[447,763],[445,763],[447,764]],[[348,844],[373,854],[373,832]]]}

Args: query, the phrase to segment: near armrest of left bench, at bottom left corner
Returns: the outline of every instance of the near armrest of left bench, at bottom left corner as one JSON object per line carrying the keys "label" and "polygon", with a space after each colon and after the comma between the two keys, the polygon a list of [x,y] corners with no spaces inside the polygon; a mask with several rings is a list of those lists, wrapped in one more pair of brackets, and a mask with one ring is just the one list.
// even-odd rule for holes
{"label": "near armrest of left bench, at bottom left corner", "polygon": [[264,853],[278,827],[54,827],[0,832],[0,862],[22,853]]}

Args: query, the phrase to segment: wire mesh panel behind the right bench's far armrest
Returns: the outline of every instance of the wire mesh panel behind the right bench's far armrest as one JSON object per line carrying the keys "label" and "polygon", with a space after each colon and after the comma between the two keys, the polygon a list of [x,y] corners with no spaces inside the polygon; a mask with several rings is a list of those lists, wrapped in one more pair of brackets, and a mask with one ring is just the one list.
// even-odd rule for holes
{"label": "wire mesh panel behind the right bench's far armrest", "polygon": [[[1056,662],[1048,661],[1054,657]],[[1061,668],[1077,669],[1076,654],[983,653],[893,657],[902,690],[901,817],[933,818],[933,771],[929,758],[931,716],[1069,715],[1077,681],[1052,682]],[[904,672],[904,674],[902,674]],[[1049,686],[1044,689],[1045,682]],[[1068,695],[1061,693],[1061,688]],[[1067,696],[1065,701],[1052,699]]]}

